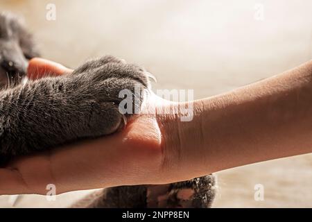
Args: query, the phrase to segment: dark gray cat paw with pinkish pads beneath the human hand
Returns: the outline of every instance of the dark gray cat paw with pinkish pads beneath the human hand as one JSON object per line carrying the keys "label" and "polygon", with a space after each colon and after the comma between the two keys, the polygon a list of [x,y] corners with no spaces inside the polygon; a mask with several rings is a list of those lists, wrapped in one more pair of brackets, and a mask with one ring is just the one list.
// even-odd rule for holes
{"label": "dark gray cat paw with pinkish pads beneath the human hand", "polygon": [[[209,175],[171,185],[122,186],[89,194],[71,207],[75,208],[207,208],[216,196],[216,177]],[[193,195],[181,199],[178,192],[191,189]]]}

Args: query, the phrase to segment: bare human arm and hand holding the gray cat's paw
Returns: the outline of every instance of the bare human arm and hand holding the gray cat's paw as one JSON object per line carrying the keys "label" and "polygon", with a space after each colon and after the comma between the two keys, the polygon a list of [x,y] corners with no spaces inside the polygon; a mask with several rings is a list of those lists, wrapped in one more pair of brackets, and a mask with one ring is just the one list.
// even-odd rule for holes
{"label": "bare human arm and hand holding the gray cat's paw", "polygon": [[[36,58],[28,75],[47,70],[70,71]],[[170,111],[186,104],[151,96],[146,111],[157,114],[139,114],[119,133],[15,160],[0,169],[0,194],[167,184],[312,151],[312,60],[190,103],[193,121],[182,122]]]}

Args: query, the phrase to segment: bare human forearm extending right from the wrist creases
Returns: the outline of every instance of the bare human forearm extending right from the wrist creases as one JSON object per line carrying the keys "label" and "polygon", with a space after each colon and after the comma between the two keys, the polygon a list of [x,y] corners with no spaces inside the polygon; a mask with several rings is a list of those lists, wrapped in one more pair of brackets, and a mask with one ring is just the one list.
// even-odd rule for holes
{"label": "bare human forearm extending right from the wrist creases", "polygon": [[312,61],[193,105],[193,121],[177,125],[177,169],[199,176],[312,152]]}

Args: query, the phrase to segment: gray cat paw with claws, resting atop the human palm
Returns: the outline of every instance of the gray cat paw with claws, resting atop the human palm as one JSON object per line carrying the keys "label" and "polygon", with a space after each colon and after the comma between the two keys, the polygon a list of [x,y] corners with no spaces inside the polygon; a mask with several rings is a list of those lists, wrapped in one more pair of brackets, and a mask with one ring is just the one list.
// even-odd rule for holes
{"label": "gray cat paw with claws, resting atop the human palm", "polygon": [[81,101],[89,103],[93,135],[85,136],[107,135],[123,128],[126,120],[141,108],[146,89],[150,88],[149,74],[144,68],[113,56],[89,60],[71,77]]}

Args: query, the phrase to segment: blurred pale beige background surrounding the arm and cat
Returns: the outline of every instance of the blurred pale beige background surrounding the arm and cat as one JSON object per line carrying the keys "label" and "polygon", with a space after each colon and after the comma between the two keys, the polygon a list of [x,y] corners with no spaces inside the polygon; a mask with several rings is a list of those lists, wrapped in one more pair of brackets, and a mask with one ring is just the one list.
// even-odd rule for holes
{"label": "blurred pale beige background surrounding the arm and cat", "polygon": [[[46,20],[48,3],[55,21]],[[45,58],[76,67],[112,54],[144,65],[155,89],[195,89],[196,99],[312,58],[310,0],[1,0],[0,8],[26,18]],[[312,207],[312,155],[217,174],[214,207]],[[254,200],[257,184],[263,201]],[[66,207],[87,192],[23,196],[15,207]],[[0,207],[11,207],[8,198],[0,196]]]}

